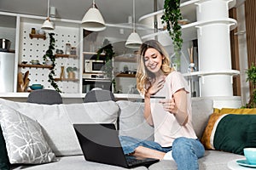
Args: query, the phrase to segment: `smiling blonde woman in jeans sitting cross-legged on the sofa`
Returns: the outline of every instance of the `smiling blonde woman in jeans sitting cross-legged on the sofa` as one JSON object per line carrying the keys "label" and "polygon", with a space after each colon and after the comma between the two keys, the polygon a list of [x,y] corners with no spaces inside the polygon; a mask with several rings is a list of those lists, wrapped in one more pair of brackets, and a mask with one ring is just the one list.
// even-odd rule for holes
{"label": "smiling blonde woman in jeans sitting cross-legged on the sofa", "polygon": [[[199,169],[198,158],[205,150],[192,127],[187,82],[170,67],[170,59],[160,42],[144,42],[139,54],[137,90],[144,96],[144,117],[154,126],[154,141],[121,136],[125,154],[174,159],[178,170]],[[150,102],[153,95],[165,99]]]}

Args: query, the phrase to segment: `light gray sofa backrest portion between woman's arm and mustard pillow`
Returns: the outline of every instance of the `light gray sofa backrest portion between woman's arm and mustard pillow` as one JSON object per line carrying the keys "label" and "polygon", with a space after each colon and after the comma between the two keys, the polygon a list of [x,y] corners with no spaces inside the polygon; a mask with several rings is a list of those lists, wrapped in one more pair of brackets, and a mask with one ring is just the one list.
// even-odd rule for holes
{"label": "light gray sofa backrest portion between woman's arm and mustard pillow", "polygon": [[212,99],[192,98],[192,124],[198,139],[201,139],[202,133],[210,115],[213,112]]}

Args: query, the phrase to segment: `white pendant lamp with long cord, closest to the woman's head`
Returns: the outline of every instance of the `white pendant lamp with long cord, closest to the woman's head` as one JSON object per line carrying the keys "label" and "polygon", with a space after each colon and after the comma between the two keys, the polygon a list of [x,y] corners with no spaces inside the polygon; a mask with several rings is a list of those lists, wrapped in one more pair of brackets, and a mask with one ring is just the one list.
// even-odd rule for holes
{"label": "white pendant lamp with long cord, closest to the woman's head", "polygon": [[131,35],[127,38],[125,42],[126,48],[139,48],[143,43],[141,37],[135,31],[135,0],[132,2],[133,4],[133,22],[132,22],[132,29]]}

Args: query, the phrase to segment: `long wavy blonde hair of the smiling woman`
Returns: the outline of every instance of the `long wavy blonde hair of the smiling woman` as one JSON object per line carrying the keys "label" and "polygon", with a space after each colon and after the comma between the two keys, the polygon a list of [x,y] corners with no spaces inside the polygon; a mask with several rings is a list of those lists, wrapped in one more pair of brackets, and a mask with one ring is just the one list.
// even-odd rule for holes
{"label": "long wavy blonde hair of the smiling woman", "polygon": [[144,55],[148,48],[154,48],[159,51],[162,56],[165,56],[165,59],[163,59],[162,65],[160,67],[160,70],[163,71],[164,75],[168,75],[173,71],[169,55],[167,54],[166,49],[160,44],[160,42],[156,40],[148,40],[147,42],[143,42],[139,50],[139,56],[137,58],[136,74],[137,90],[140,92],[140,94],[143,95],[147,92],[147,89],[155,80],[154,73],[148,71],[147,67],[145,66]]}

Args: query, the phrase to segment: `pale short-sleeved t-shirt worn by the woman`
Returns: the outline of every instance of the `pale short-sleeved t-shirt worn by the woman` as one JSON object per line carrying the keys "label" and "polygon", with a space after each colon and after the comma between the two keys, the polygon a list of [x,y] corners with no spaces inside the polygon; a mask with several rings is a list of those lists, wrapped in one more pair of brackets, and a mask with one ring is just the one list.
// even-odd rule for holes
{"label": "pale short-sleeved t-shirt worn by the woman", "polygon": [[184,88],[187,92],[187,111],[189,120],[185,126],[179,125],[172,113],[164,111],[162,104],[153,100],[150,101],[151,114],[154,122],[154,141],[163,147],[172,146],[173,140],[178,137],[197,139],[192,126],[189,87],[182,74],[177,71],[172,71],[166,77],[164,88],[160,89],[155,96],[165,96],[166,99],[172,99],[172,95],[181,88]]}

